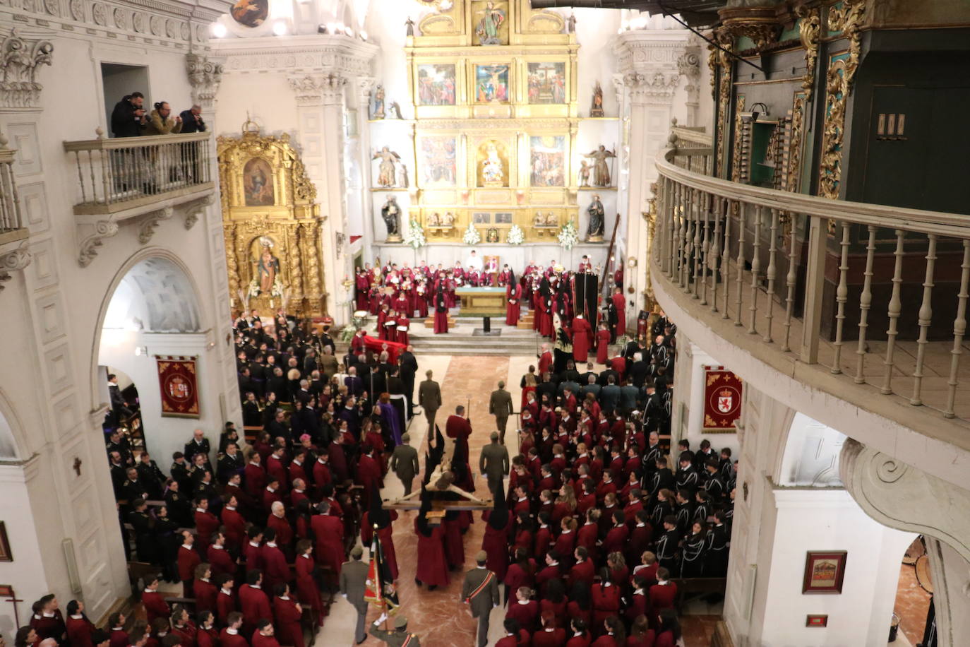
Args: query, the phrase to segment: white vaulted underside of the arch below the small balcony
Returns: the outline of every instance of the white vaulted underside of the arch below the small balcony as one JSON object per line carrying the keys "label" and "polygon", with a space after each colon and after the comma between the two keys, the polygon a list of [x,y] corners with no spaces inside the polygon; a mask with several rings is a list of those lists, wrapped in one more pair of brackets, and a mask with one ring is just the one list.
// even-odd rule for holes
{"label": "white vaulted underside of the arch below the small balcony", "polygon": [[[134,298],[143,299],[134,307],[134,311],[122,311],[117,304],[112,307],[113,297],[122,284],[122,290],[128,290]],[[151,291],[151,294],[146,295],[146,290]],[[163,311],[166,306],[178,302],[187,307],[179,312]],[[130,256],[114,274],[98,309],[94,340],[91,344],[91,384],[99,381],[97,372],[101,337],[110,313],[118,318],[116,322],[128,316],[131,324],[137,326],[140,322],[144,330],[201,332],[210,328],[212,322],[206,320],[205,310],[200,304],[200,292],[195,278],[177,254],[161,247],[146,247]],[[135,318],[138,322],[134,321]],[[97,389],[91,389],[92,410],[102,404],[98,402],[98,394]]]}

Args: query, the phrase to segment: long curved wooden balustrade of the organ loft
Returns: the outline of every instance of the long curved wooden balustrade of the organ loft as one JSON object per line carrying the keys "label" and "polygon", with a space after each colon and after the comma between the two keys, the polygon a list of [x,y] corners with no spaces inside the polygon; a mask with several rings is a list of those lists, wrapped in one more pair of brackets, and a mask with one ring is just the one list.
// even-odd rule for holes
{"label": "long curved wooden balustrade of the organ loft", "polygon": [[710,178],[674,164],[682,153],[657,160],[652,270],[666,288],[779,353],[970,420],[970,216]]}

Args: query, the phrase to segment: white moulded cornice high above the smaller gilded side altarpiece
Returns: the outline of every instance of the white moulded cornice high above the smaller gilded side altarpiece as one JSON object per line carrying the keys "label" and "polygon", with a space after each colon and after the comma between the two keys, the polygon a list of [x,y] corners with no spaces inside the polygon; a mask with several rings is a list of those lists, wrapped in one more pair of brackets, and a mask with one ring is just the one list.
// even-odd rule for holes
{"label": "white moulded cornice high above the smaller gilded side altarpiece", "polygon": [[379,48],[342,36],[257,37],[214,40],[212,52],[225,60],[226,74],[263,70],[283,74],[323,72],[371,76]]}

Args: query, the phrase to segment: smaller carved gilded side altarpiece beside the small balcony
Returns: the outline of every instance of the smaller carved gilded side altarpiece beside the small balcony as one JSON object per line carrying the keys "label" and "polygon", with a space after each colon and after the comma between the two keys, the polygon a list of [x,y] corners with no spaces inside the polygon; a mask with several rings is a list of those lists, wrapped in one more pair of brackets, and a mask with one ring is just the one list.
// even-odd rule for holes
{"label": "smaller carved gilded side altarpiece beside the small balcony", "polygon": [[233,307],[324,315],[323,218],[289,135],[264,136],[246,121],[240,137],[219,137],[217,148]]}

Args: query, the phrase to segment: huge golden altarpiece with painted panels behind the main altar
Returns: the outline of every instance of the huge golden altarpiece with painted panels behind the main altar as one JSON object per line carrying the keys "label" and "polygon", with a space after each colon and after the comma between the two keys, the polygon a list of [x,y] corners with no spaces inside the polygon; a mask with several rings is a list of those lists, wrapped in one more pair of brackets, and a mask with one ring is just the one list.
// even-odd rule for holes
{"label": "huge golden altarpiece with painted panels behind the main altar", "polygon": [[460,0],[407,37],[409,215],[429,243],[461,241],[469,223],[490,243],[513,224],[530,243],[578,226],[579,46],[566,22],[529,0]]}

